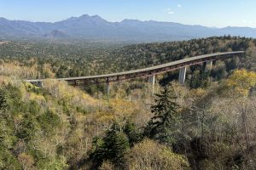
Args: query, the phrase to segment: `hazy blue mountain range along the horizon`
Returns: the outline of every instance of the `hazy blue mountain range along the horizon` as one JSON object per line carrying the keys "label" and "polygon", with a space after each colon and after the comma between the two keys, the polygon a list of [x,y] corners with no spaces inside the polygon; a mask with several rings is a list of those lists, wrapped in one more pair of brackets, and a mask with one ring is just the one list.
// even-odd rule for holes
{"label": "hazy blue mountain range along the horizon", "polygon": [[256,37],[256,28],[190,26],[173,22],[122,20],[109,22],[98,15],[84,14],[55,23],[0,18],[0,38],[56,38],[162,42],[211,36]]}

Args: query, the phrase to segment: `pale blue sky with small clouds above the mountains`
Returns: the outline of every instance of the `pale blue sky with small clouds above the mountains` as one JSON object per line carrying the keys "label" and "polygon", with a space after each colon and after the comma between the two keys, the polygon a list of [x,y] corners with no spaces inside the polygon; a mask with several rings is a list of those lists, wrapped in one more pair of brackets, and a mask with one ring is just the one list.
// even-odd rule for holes
{"label": "pale blue sky with small clouds above the mountains", "polygon": [[82,14],[256,28],[256,0],[0,0],[0,17],[9,20],[53,22]]}

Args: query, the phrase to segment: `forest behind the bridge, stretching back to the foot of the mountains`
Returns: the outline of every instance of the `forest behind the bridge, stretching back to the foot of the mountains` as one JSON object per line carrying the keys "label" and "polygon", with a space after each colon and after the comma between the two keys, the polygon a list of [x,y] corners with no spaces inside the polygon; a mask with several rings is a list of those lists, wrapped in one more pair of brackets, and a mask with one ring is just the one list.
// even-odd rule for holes
{"label": "forest behind the bridge, stretching back to the foot of the mountains", "polygon": [[245,37],[209,37],[123,48],[125,44],[115,42],[6,42],[0,45],[0,57],[2,62],[17,60],[17,65],[32,67],[35,72],[26,78],[79,77],[131,71],[200,54],[252,51],[255,43]]}

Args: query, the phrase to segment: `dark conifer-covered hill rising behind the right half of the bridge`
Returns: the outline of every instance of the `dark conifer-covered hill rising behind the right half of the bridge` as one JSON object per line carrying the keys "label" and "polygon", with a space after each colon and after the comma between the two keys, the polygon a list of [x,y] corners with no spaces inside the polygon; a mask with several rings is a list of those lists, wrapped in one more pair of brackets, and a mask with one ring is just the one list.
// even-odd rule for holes
{"label": "dark conifer-covered hill rising behind the right half of the bridge", "polygon": [[[250,50],[256,41],[245,37],[209,37],[183,42],[162,42],[125,46],[110,57],[113,66],[124,70],[160,65],[178,59],[217,52]],[[133,65],[127,65],[132,63]]]}

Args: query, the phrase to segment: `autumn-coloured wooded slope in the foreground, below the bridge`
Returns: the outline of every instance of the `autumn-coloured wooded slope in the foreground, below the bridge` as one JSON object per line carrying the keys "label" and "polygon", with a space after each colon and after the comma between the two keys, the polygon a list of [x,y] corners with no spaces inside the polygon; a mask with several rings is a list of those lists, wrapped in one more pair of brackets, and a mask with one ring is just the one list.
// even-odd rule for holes
{"label": "autumn-coloured wooded slope in the foreground, below the bridge", "polygon": [[172,82],[156,98],[137,82],[145,84],[108,100],[65,82],[0,82],[2,169],[256,167],[255,72],[234,71],[208,88]]}

